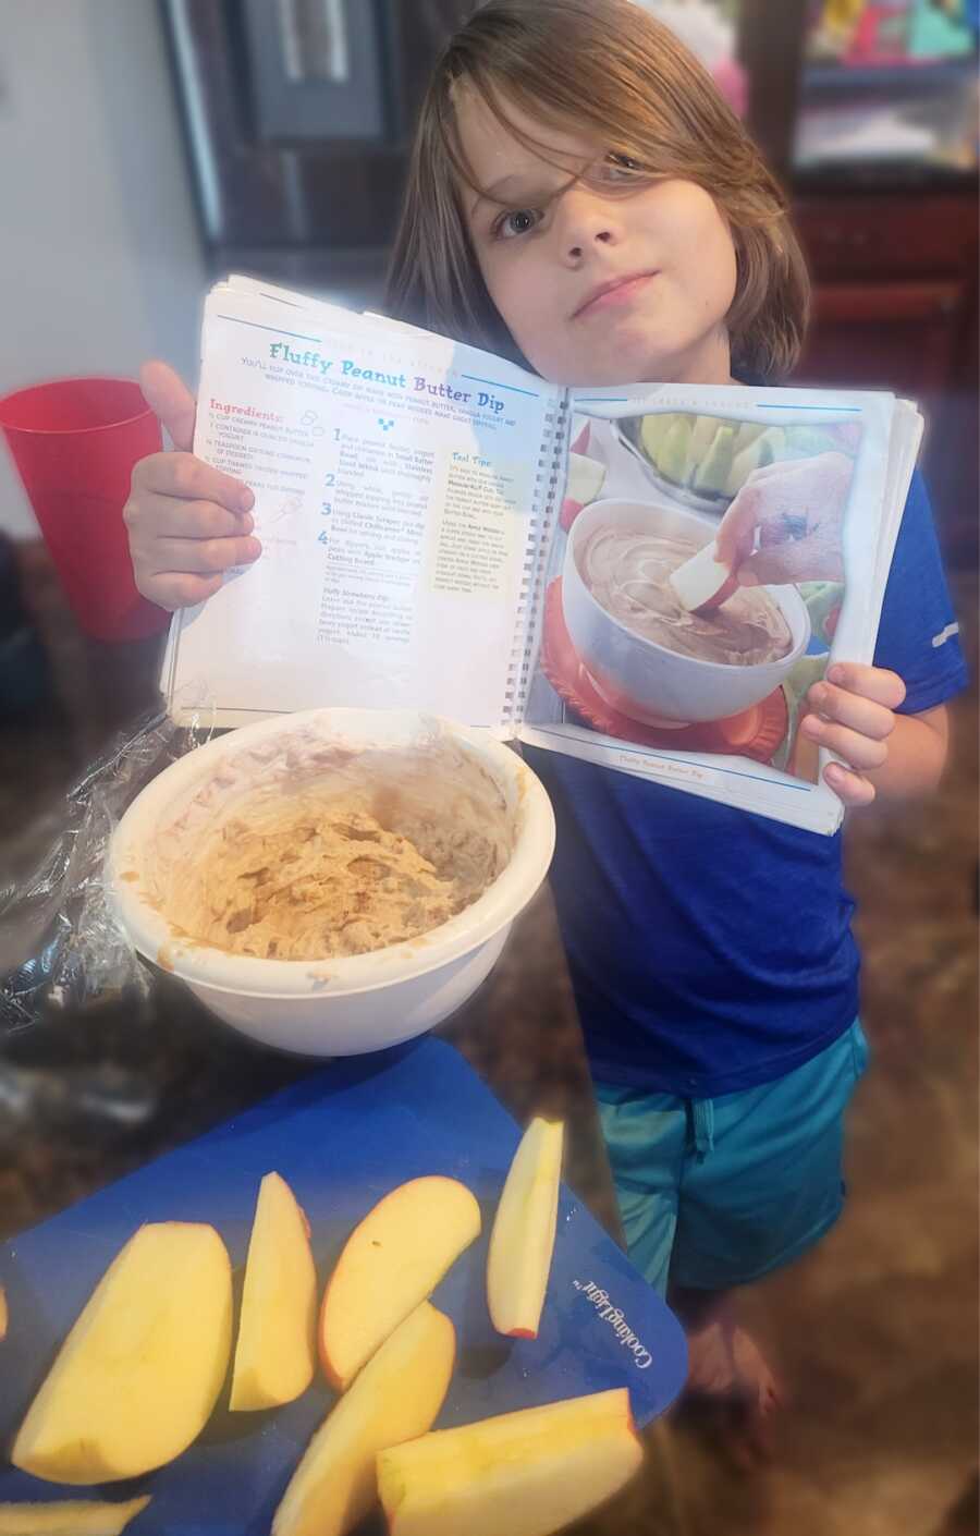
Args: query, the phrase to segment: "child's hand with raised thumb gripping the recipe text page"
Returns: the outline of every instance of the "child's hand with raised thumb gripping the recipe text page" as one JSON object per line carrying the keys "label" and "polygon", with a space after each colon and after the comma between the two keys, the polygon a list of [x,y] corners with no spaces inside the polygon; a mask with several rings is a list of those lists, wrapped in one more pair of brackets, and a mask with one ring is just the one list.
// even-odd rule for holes
{"label": "child's hand with raised thumb gripping the recipe text page", "polygon": [[137,587],[161,608],[187,608],[210,598],[221,571],[261,554],[249,538],[255,498],[247,485],[195,459],[195,402],[166,362],[147,362],[140,386],[174,441],[172,453],[151,453],[132,472],[123,508]]}

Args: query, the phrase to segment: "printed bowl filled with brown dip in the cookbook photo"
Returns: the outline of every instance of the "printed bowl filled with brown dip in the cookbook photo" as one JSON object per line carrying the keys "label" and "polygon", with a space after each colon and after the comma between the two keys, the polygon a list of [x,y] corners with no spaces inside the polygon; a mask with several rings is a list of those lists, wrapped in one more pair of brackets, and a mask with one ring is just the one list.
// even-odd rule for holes
{"label": "printed bowl filled with brown dip in the cookbook photo", "polygon": [[650,725],[723,720],[760,703],[809,644],[796,587],[739,588],[711,613],[687,611],[671,571],[717,522],[664,501],[596,501],[578,515],[562,568],[571,644],[596,688]]}

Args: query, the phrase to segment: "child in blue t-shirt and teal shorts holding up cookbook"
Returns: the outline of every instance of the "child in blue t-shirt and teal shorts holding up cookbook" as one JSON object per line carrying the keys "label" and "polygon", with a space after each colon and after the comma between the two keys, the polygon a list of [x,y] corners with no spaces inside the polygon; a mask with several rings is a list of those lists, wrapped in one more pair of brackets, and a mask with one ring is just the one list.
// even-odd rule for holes
{"label": "child in blue t-shirt and teal shorts holding up cookbook", "polygon": [[[389,309],[559,384],[777,381],[808,283],[780,194],[687,51],[631,0],[490,0],[422,106]],[[250,493],[195,461],[194,401],[147,398],[178,450],[137,467],[140,588],[200,602],[260,553]],[[874,667],[839,662],[803,730],[845,805],[935,788],[963,680],[922,482]],[[691,1382],[748,1405],[773,1378],[731,1290],[842,1207],[865,1068],[840,839],[533,753],[558,816],[553,889],[634,1261],[688,1329]],[[670,1287],[670,1289],[668,1289]]]}

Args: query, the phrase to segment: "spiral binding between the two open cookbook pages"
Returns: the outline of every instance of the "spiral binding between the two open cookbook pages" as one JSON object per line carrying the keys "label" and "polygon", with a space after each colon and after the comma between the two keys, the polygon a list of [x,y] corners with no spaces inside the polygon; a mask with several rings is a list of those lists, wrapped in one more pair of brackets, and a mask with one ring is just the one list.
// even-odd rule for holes
{"label": "spiral binding between the two open cookbook pages", "polygon": [[515,730],[524,720],[527,693],[538,653],[538,631],[544,617],[544,584],[551,547],[551,531],[568,472],[568,416],[565,396],[544,418],[545,438],[535,473],[535,510],[528,528],[521,593],[518,596],[515,642],[507,667],[502,725]]}

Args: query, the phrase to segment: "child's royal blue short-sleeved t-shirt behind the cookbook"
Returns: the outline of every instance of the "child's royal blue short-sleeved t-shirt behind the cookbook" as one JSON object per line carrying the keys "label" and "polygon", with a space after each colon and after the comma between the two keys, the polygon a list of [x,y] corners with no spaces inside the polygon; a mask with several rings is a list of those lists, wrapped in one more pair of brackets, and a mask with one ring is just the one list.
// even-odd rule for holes
{"label": "child's royal blue short-sleeved t-shirt behind the cookbook", "polygon": [[[905,680],[908,714],[966,679],[919,475],[874,660]],[[840,834],[525,753],[558,819],[551,886],[596,1078],[711,1098],[791,1072],[851,1025],[859,954]]]}

